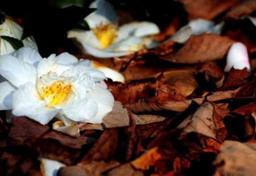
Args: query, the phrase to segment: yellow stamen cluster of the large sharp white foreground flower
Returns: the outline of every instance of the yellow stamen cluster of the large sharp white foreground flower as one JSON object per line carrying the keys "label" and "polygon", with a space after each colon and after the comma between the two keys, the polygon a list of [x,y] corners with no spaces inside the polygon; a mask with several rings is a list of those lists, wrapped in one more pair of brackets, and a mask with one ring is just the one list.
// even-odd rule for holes
{"label": "yellow stamen cluster of the large sharp white foreground flower", "polygon": [[64,82],[57,81],[50,87],[42,87],[43,97],[48,98],[50,105],[60,104],[66,100],[71,87],[71,84],[65,85]]}

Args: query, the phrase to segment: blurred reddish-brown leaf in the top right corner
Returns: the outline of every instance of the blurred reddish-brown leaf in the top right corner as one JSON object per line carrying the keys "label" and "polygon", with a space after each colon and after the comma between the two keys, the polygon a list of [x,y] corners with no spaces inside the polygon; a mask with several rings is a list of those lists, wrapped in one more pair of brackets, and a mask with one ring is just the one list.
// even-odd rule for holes
{"label": "blurred reddish-brown leaf in the top right corner", "polygon": [[256,10],[256,1],[246,0],[239,3],[237,6],[231,8],[231,10],[225,15],[225,18],[241,19],[245,15],[249,15]]}

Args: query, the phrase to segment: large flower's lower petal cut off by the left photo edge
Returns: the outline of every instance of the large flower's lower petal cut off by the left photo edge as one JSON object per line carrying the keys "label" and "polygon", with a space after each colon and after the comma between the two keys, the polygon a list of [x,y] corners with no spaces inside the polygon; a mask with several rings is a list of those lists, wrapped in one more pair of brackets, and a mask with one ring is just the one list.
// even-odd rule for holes
{"label": "large flower's lower petal cut off by the left photo edge", "polygon": [[9,81],[0,83],[0,110],[13,109],[13,93],[15,87]]}

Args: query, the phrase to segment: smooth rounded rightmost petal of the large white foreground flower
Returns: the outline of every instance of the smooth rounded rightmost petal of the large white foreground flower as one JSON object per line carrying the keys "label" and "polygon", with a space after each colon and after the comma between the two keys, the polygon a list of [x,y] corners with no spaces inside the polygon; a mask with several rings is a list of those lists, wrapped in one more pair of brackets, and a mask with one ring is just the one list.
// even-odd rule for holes
{"label": "smooth rounded rightmost petal of the large white foreground flower", "polygon": [[96,89],[89,92],[88,95],[98,104],[96,116],[90,119],[89,123],[102,123],[102,119],[112,111],[114,106],[114,97],[107,89],[96,86]]}

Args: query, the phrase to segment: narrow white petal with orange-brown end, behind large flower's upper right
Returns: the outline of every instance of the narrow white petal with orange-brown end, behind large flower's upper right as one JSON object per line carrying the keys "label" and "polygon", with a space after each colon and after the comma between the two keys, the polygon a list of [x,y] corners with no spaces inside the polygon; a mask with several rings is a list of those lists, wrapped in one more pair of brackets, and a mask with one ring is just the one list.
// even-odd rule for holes
{"label": "narrow white petal with orange-brown end, behind large flower's upper right", "polygon": [[107,78],[111,78],[113,81],[119,81],[121,83],[125,82],[125,77],[123,77],[123,75],[119,72],[111,68],[105,67],[104,65],[96,61],[91,61],[91,63],[93,68],[96,68],[97,70],[104,72]]}

